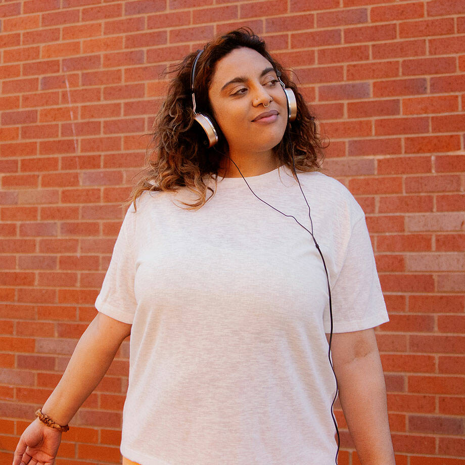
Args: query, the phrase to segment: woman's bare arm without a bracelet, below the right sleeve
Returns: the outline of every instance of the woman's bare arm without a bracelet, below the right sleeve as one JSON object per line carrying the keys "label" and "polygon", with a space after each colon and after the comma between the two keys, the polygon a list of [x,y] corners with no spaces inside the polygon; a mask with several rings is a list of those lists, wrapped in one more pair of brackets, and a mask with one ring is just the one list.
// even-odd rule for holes
{"label": "woman's bare arm without a bracelet, below the right sleeve", "polygon": [[361,463],[395,465],[375,331],[334,333],[331,352],[339,400]]}

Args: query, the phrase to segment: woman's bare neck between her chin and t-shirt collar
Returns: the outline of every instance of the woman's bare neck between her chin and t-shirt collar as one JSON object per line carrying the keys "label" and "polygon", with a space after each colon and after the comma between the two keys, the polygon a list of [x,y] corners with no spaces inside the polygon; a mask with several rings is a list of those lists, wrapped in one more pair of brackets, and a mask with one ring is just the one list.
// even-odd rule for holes
{"label": "woman's bare neck between her chin and t-shirt collar", "polygon": [[278,161],[274,154],[270,151],[266,154],[240,154],[234,153],[225,156],[220,163],[218,176],[221,177],[241,177],[241,173],[232,161],[232,159],[244,177],[258,176],[260,174],[268,173],[278,167]]}

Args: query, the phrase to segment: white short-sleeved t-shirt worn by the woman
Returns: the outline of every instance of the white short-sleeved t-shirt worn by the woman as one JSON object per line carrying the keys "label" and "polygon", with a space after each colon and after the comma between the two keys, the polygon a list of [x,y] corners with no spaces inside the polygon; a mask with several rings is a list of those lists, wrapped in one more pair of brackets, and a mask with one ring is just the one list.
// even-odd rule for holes
{"label": "white short-sleeved t-shirt worn by the woman", "polygon": [[[334,332],[388,321],[361,207],[334,178],[298,177]],[[311,231],[287,168],[246,179]],[[310,234],[242,177],[219,180],[197,211],[173,202],[194,198],[145,192],[129,208],[96,301],[132,323],[121,453],[142,465],[333,465],[328,285]]]}

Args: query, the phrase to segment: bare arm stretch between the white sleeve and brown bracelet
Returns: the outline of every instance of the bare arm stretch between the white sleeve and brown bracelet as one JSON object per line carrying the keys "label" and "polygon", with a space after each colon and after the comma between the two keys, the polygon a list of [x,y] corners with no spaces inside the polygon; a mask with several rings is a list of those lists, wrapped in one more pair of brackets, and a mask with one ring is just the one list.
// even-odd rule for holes
{"label": "bare arm stretch between the white sleeve and brown bracelet", "polygon": [[130,325],[99,313],[79,339],[63,377],[42,412],[56,423],[67,425],[105,376],[129,331]]}

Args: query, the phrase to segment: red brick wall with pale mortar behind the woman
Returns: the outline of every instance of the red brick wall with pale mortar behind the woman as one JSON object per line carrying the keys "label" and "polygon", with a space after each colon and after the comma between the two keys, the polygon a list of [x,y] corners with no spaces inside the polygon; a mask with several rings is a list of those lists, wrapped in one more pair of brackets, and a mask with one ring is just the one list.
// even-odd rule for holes
{"label": "red brick wall with pale mortar behind the woman", "polygon": [[[0,462],[96,313],[159,73],[247,25],[295,72],[325,169],[366,213],[397,464],[465,464],[464,0],[3,0],[0,21]],[[57,465],[120,462],[127,356]]]}

